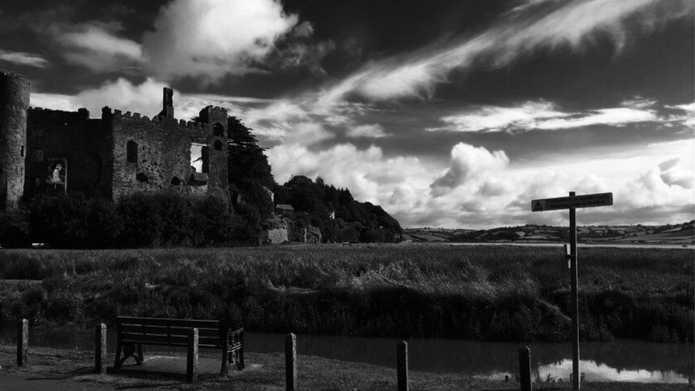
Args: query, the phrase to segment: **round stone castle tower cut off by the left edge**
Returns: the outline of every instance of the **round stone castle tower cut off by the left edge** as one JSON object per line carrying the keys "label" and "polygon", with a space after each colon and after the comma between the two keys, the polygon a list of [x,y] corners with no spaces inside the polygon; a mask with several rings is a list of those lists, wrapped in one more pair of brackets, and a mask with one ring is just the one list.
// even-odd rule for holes
{"label": "round stone castle tower cut off by the left edge", "polygon": [[0,210],[16,209],[24,191],[29,80],[0,70]]}

